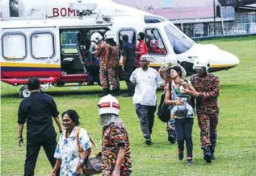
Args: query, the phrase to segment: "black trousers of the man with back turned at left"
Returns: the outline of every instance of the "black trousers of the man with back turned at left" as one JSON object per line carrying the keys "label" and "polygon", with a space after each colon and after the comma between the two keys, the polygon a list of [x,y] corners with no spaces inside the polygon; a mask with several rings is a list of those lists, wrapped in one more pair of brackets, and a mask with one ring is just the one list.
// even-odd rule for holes
{"label": "black trousers of the man with back turned at left", "polygon": [[[29,139],[27,138],[27,153],[24,168],[24,176],[33,176],[36,167],[36,161],[40,152],[40,147],[43,146],[44,152],[50,162],[52,168],[55,166],[56,158],[54,158],[54,152],[57,146],[55,137],[45,139]],[[57,175],[59,175],[58,170]]]}

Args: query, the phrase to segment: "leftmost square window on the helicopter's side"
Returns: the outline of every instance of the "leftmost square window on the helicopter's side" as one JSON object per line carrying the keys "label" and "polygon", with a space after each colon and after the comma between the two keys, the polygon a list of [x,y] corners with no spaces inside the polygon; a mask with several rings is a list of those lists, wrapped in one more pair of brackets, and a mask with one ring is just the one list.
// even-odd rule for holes
{"label": "leftmost square window on the helicopter's side", "polygon": [[[5,59],[24,59],[27,57],[26,37],[23,34],[2,36],[2,55]],[[17,49],[19,48],[19,49]]]}

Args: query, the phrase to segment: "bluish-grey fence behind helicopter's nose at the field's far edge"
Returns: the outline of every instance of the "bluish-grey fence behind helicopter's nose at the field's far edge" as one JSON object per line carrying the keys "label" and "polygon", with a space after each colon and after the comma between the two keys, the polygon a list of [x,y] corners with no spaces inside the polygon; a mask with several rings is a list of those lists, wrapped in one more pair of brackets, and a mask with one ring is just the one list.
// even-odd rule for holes
{"label": "bluish-grey fence behind helicopter's nose at the field's far edge", "polygon": [[191,38],[222,37],[230,35],[256,34],[256,11],[237,11],[234,21],[216,23],[183,23],[176,25]]}

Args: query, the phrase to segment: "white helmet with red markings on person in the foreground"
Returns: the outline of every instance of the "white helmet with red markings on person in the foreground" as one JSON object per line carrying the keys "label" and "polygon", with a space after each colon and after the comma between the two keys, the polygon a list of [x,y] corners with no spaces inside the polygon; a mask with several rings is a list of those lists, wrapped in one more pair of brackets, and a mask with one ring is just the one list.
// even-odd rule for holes
{"label": "white helmet with red markings on person in the foreground", "polygon": [[99,116],[106,113],[118,115],[120,112],[120,104],[114,96],[111,96],[111,94],[108,94],[107,96],[103,96],[99,100],[98,110],[99,110]]}

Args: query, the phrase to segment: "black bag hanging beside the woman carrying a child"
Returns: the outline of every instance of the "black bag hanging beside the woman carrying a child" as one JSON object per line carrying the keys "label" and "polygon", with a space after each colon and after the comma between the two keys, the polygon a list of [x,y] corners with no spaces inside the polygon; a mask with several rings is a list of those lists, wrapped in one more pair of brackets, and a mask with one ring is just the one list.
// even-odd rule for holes
{"label": "black bag hanging beside the woman carrying a child", "polygon": [[157,116],[160,121],[166,123],[170,120],[170,109],[169,106],[165,104],[166,93],[163,93],[161,96],[160,104],[157,109]]}

